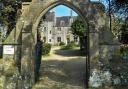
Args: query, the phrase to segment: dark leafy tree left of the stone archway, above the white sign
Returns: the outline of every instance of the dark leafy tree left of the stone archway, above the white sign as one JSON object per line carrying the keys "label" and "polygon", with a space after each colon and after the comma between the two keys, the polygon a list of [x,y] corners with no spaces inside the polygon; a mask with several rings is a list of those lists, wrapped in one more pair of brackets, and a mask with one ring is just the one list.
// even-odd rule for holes
{"label": "dark leafy tree left of the stone archway, above the white sign", "polygon": [[0,0],[0,3],[2,3],[0,24],[7,27],[6,35],[9,35],[16,25],[21,8],[21,0]]}

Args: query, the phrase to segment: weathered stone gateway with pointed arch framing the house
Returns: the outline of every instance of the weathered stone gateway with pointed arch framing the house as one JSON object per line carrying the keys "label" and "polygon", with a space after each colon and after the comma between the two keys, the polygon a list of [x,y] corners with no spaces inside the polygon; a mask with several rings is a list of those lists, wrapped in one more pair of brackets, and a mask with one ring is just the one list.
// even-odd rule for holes
{"label": "weathered stone gateway with pointed arch framing the house", "polygon": [[[61,4],[76,11],[82,18],[83,23],[88,26],[88,56],[85,70],[86,87],[88,87],[90,73],[92,73],[93,69],[99,67],[99,60],[103,59],[103,61],[107,62],[111,58],[111,54],[114,52],[110,53],[111,48],[115,50],[118,45],[115,45],[117,42],[113,39],[112,33],[109,31],[109,18],[101,3],[89,0],[32,0],[32,2],[23,3],[22,15],[17,22],[16,29],[5,42],[5,44],[12,44],[12,42],[15,44],[15,54],[13,56],[15,61],[10,62],[10,66],[13,66],[12,71],[15,73],[9,72],[10,67],[8,67],[8,70],[3,74],[6,77],[7,86],[13,87],[10,78],[14,75],[19,76],[14,77],[18,89],[30,89],[26,87],[31,87],[35,82],[37,27],[41,17],[48,10]],[[16,35],[13,36],[13,33],[16,33]],[[9,58],[12,57],[4,55],[4,59]],[[92,62],[92,60],[96,61]]]}

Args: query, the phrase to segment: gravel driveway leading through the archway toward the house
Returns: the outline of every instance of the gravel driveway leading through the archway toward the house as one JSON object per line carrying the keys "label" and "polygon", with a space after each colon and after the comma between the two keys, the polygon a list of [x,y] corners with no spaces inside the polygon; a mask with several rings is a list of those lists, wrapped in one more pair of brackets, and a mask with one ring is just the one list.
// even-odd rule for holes
{"label": "gravel driveway leading through the archway toward the house", "polygon": [[79,49],[52,48],[51,55],[42,58],[40,80],[33,89],[85,89],[85,59]]}

